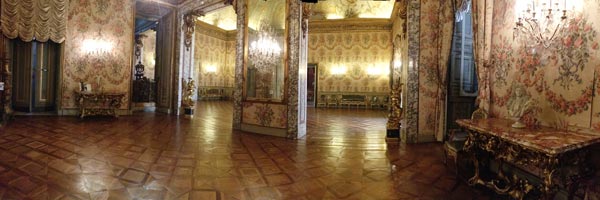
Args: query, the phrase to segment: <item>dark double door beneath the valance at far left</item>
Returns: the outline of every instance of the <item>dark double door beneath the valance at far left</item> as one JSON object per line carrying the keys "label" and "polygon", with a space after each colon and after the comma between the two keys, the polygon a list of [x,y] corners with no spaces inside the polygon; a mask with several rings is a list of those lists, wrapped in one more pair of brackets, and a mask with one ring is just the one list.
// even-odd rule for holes
{"label": "dark double door beneath the valance at far left", "polygon": [[60,45],[12,40],[13,109],[19,112],[56,110]]}

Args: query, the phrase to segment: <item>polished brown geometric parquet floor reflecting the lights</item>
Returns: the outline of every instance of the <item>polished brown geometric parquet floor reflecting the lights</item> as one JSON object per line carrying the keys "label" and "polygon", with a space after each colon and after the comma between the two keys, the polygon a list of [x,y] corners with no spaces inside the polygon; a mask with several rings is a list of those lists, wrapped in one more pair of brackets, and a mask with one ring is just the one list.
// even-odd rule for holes
{"label": "polished brown geometric parquet floor reflecting the lights", "polygon": [[231,130],[230,102],[186,120],[17,117],[0,128],[0,199],[482,199],[440,144],[386,146],[385,112],[309,109],[308,136]]}

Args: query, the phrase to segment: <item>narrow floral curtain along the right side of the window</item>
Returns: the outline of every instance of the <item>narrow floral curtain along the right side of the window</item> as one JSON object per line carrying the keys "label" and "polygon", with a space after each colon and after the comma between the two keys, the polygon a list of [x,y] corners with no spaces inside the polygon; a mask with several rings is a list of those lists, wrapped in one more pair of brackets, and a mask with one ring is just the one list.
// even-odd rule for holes
{"label": "narrow floral curtain along the right side of the window", "polygon": [[489,71],[492,43],[492,14],[493,0],[472,0],[473,18],[473,46],[475,54],[475,67],[479,83],[479,108],[489,112],[490,109],[490,83]]}

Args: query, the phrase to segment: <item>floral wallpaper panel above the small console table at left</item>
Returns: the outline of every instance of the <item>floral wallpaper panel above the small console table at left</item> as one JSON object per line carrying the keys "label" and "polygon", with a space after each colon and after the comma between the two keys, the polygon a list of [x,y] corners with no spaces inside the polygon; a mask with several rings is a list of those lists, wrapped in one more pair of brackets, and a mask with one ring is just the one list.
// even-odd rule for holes
{"label": "floral wallpaper panel above the small console table at left", "polygon": [[[62,71],[62,108],[76,108],[73,91],[79,82],[92,90],[126,94],[121,109],[129,107],[133,56],[133,0],[70,1]],[[83,42],[101,39],[112,45],[109,54],[87,54]],[[100,85],[97,82],[100,82]]]}

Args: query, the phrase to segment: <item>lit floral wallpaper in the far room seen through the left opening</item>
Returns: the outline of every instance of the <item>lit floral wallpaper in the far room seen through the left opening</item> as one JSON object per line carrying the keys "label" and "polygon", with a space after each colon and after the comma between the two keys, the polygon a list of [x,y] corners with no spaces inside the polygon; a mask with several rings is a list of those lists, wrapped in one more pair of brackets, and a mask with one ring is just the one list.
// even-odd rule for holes
{"label": "lit floral wallpaper in the far room seen through the left opening", "polygon": [[[225,40],[196,31],[194,70],[199,87],[233,87],[235,68],[235,40]],[[225,37],[225,36],[223,36]],[[216,72],[208,72],[214,67]]]}

